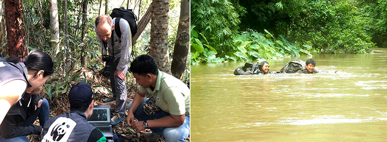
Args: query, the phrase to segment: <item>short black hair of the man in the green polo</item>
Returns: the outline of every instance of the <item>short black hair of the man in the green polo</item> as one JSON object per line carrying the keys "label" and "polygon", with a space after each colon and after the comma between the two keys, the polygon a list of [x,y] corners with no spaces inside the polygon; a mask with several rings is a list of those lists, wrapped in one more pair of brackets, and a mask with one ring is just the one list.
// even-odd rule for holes
{"label": "short black hair of the man in the green polo", "polygon": [[157,64],[153,57],[147,54],[137,56],[130,64],[130,72],[145,76],[147,73],[157,75],[159,73]]}

